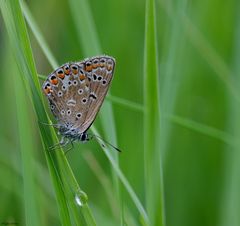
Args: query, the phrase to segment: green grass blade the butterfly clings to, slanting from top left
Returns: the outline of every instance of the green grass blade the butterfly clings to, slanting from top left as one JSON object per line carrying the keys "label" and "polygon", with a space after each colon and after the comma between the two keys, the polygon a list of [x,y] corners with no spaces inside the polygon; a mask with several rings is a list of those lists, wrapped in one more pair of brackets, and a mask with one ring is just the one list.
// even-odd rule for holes
{"label": "green grass blade the butterfly clings to, slanting from top left", "polygon": [[[40,85],[19,2],[17,0],[0,1],[0,6],[27,94],[32,100],[38,120],[47,122],[48,117],[42,104]],[[56,134],[52,128],[43,126],[41,123],[39,127],[45,150],[47,150],[48,147],[57,142]],[[80,208],[75,203],[75,194],[80,191],[80,188],[63,151],[53,154],[45,151],[45,156],[56,192],[62,225],[71,225],[70,214],[76,225],[95,225],[88,205],[85,204]],[[71,212],[69,212],[68,207]]]}

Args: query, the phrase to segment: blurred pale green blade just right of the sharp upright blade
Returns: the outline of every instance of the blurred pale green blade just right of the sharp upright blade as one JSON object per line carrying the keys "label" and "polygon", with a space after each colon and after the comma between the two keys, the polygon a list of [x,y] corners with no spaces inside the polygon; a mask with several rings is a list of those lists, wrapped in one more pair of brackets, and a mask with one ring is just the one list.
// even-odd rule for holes
{"label": "blurred pale green blade just right of the sharp upright blade", "polygon": [[[176,3],[177,11],[184,11],[186,0]],[[166,63],[161,66],[161,129],[164,131],[161,135],[161,150],[163,163],[167,159],[168,147],[171,143],[172,124],[165,120],[165,115],[174,114],[175,103],[179,93],[179,86],[183,80],[181,71],[186,64],[185,58],[181,57],[184,51],[185,37],[179,26],[178,17],[172,17],[171,26],[168,26],[170,38],[166,40],[164,46],[167,46]]]}

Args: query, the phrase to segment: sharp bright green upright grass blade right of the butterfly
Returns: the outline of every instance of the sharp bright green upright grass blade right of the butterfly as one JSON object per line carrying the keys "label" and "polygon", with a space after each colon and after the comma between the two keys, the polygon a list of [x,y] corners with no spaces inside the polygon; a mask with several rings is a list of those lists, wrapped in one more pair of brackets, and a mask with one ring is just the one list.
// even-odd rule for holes
{"label": "sharp bright green upright grass blade right of the butterfly", "polygon": [[151,225],[163,224],[160,101],[155,0],[146,0],[144,49],[144,159],[146,206]]}

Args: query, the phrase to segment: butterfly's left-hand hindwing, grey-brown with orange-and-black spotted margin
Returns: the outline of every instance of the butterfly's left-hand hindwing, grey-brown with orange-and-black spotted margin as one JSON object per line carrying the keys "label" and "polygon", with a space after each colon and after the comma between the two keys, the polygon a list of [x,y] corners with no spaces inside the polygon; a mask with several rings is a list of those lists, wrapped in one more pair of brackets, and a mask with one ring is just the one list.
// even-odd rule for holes
{"label": "butterfly's left-hand hindwing, grey-brown with orange-and-black spotted margin", "polygon": [[[89,81],[80,73],[84,64],[69,63],[56,69],[43,83],[43,91],[49,100],[50,109],[60,125],[83,123],[89,96]],[[82,70],[81,70],[82,71]]]}

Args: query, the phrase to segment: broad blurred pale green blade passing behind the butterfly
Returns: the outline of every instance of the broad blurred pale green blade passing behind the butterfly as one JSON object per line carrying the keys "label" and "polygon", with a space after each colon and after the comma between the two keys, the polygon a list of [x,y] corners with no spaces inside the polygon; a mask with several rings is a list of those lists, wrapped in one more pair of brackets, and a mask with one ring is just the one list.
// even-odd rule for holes
{"label": "broad blurred pale green blade passing behind the butterfly", "polygon": [[[94,24],[94,19],[91,13],[87,0],[69,0],[69,5],[72,11],[75,27],[78,31],[80,45],[83,48],[85,56],[94,56],[102,54],[100,42],[97,36],[97,31]],[[81,9],[81,15],[79,14]],[[79,22],[81,21],[81,22]],[[115,120],[113,115],[112,104],[104,102],[101,111],[99,112],[100,120],[105,132],[106,139],[110,140],[112,144],[117,146]],[[113,153],[113,156],[118,164],[118,153]],[[119,206],[121,206],[121,194],[119,188],[119,181],[112,170],[112,177],[116,194],[118,195]],[[122,208],[119,208],[121,216],[121,224],[124,222]]]}

